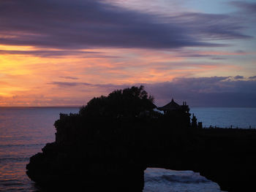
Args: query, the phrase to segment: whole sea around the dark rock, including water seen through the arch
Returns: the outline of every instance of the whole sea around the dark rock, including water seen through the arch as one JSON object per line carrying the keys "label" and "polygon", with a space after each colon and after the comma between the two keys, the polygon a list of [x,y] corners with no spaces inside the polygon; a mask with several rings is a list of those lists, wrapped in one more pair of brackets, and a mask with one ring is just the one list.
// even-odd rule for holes
{"label": "whole sea around the dark rock, including water seen through the arch", "polygon": [[[0,191],[39,191],[26,176],[31,155],[55,140],[53,126],[60,113],[78,107],[0,107]],[[190,111],[203,127],[256,128],[256,108],[194,107]],[[217,183],[197,172],[148,168],[143,192],[219,192]]]}

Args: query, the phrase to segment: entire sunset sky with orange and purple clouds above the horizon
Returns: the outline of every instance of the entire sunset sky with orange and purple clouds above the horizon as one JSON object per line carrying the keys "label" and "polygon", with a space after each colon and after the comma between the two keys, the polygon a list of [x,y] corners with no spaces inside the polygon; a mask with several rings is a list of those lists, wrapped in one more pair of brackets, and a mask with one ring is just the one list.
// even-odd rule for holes
{"label": "entire sunset sky with orange and purple clouds above the horizon", "polygon": [[0,107],[132,85],[157,106],[256,107],[255,23],[255,0],[0,0]]}

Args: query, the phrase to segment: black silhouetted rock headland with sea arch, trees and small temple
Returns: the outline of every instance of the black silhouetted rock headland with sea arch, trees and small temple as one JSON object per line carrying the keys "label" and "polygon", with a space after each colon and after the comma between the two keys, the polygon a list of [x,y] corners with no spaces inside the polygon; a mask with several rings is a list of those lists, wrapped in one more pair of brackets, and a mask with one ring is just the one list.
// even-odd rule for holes
{"label": "black silhouetted rock headland with sea arch, trees and small temple", "polygon": [[132,87],[60,114],[56,142],[31,157],[28,176],[48,191],[142,191],[144,170],[155,166],[200,172],[226,191],[255,190],[254,129],[202,128],[186,102],[161,113],[153,101]]}

